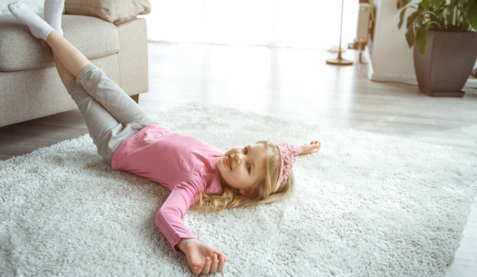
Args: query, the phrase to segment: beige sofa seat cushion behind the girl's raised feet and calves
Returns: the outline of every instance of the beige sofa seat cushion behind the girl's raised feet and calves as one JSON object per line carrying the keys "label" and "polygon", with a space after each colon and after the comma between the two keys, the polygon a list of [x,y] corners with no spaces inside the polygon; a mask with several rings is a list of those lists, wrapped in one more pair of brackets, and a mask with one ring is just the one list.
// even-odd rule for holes
{"label": "beige sofa seat cushion behind the girl's raised feet and calves", "polygon": [[[64,37],[88,59],[119,51],[118,28],[96,17],[63,15]],[[50,46],[36,39],[13,15],[0,16],[0,71],[54,66]]]}

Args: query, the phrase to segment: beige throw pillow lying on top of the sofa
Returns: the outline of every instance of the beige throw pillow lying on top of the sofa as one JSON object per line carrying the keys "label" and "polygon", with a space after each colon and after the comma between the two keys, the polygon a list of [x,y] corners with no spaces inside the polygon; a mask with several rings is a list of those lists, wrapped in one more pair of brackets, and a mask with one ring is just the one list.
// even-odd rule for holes
{"label": "beige throw pillow lying on top of the sofa", "polygon": [[149,0],[66,0],[64,6],[66,15],[99,17],[113,24],[151,12]]}

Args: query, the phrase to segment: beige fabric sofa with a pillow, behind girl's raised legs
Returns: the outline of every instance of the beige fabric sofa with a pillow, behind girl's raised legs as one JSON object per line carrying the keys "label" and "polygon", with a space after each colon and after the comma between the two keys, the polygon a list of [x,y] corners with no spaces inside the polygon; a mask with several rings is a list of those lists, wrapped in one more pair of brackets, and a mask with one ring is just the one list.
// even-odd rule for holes
{"label": "beige fabric sofa with a pillow, behind girl's raised legs", "polygon": [[[138,102],[148,91],[148,0],[66,0],[64,37]],[[42,15],[41,15],[42,16]],[[0,127],[76,109],[49,46],[12,15],[0,16]]]}

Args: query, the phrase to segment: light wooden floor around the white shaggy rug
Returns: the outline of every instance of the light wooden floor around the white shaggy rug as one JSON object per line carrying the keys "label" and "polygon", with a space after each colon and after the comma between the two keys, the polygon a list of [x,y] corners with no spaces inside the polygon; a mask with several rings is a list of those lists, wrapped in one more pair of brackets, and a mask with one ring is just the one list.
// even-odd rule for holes
{"label": "light wooden floor around the white shaggy rug", "polygon": [[[290,48],[150,43],[149,93],[142,94],[139,103],[150,113],[190,101],[214,103],[477,150],[477,93],[431,98],[415,86],[371,82],[366,64],[339,67],[324,62],[335,56]],[[354,51],[344,57],[358,60]],[[86,133],[78,110],[1,127],[0,159]],[[474,201],[447,276],[476,272]]]}

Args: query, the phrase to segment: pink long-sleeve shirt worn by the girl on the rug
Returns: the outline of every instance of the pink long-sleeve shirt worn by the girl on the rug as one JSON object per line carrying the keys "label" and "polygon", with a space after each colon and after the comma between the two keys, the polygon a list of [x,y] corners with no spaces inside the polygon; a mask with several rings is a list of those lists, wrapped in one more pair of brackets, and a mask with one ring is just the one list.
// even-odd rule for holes
{"label": "pink long-sleeve shirt worn by the girl on the rug", "polygon": [[113,154],[113,169],[157,181],[171,190],[156,215],[156,224],[172,248],[181,238],[196,238],[182,221],[199,191],[222,193],[217,167],[223,152],[193,136],[171,133],[151,124],[123,141]]}

